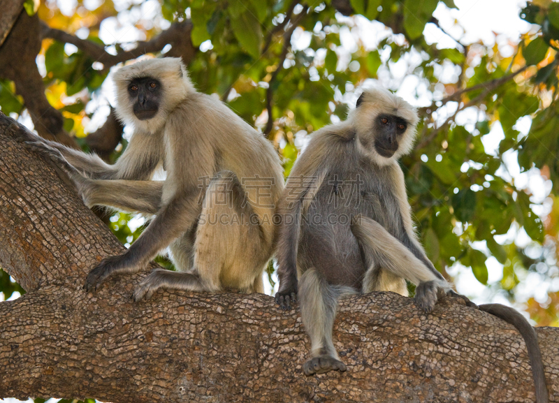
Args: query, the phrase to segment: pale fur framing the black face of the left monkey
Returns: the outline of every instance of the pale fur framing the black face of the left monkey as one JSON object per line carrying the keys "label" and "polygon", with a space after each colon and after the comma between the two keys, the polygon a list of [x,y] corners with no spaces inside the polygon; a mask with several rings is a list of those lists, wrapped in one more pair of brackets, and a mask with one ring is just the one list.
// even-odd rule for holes
{"label": "pale fur framing the black face of the left monkey", "polygon": [[[134,115],[133,102],[130,101],[128,87],[134,78],[152,77],[161,82],[161,103],[157,114],[151,119],[140,120]],[[119,68],[112,76],[117,91],[117,117],[134,129],[155,133],[163,126],[169,113],[189,94],[196,91],[187,69],[179,57],[147,59]]]}

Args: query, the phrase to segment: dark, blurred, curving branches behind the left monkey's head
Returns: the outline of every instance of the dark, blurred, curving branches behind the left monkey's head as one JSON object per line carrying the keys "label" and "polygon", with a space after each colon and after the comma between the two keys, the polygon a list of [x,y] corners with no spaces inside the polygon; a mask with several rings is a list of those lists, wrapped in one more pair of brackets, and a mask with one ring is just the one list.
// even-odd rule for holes
{"label": "dark, blurred, curving branches behind the left monkey's head", "polygon": [[[43,78],[35,62],[36,55],[41,49],[41,40],[52,38],[62,43],[72,43],[96,61],[103,63],[103,69],[108,71],[111,66],[122,61],[134,59],[147,52],[159,52],[167,44],[171,45],[171,49],[166,55],[182,57],[184,62],[189,64],[196,52],[196,48],[190,41],[191,29],[190,21],[177,22],[150,41],[139,42],[135,49],[113,55],[92,41],[82,40],[59,29],[52,29],[41,22],[37,15],[29,17],[25,11],[22,11],[17,22],[13,24],[10,34],[1,33],[6,34],[7,38],[0,47],[0,75],[15,82],[17,92],[24,98],[35,129],[41,137],[78,148],[75,140],[63,129],[61,113],[52,108],[45,96]],[[117,122],[111,110],[106,124],[91,133],[86,138],[86,142],[92,151],[101,156],[108,156],[120,138],[122,138],[122,125]]]}

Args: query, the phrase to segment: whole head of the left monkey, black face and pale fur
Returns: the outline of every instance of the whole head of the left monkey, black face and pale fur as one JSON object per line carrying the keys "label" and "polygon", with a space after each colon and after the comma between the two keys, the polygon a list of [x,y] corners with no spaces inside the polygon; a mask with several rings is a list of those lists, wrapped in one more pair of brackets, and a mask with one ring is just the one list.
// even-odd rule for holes
{"label": "whole head of the left monkey, black face and pale fur", "polygon": [[117,117],[148,133],[161,129],[170,111],[195,91],[177,57],[137,61],[120,68],[113,80]]}

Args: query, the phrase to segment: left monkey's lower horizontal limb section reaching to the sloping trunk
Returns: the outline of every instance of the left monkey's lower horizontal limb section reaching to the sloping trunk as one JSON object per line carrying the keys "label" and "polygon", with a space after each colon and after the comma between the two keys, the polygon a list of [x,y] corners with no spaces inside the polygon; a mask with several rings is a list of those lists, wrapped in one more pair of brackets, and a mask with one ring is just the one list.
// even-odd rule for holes
{"label": "left monkey's lower horizontal limb section reaching to the sloping trunk", "polygon": [[82,179],[76,182],[84,203],[115,207],[128,212],[157,214],[163,181]]}

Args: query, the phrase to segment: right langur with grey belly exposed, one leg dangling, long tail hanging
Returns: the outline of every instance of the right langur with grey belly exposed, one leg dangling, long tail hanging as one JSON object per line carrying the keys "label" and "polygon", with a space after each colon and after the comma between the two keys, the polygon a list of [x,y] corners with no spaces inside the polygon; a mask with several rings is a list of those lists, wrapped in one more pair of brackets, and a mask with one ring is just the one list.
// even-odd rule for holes
{"label": "right langur with grey belly exposed, one leg dangling, long tail hanging", "polygon": [[[386,89],[365,90],[346,121],[314,133],[287,179],[277,208],[275,298],[284,310],[299,300],[312,344],[312,358],[303,365],[307,375],[346,370],[332,342],[340,295],[407,296],[407,279],[416,284],[415,302],[425,312],[447,293],[459,296],[429,261],[412,227],[398,159],[412,150],[418,121],[402,98]],[[509,307],[480,309],[521,330],[537,390],[547,397],[532,326]]]}

